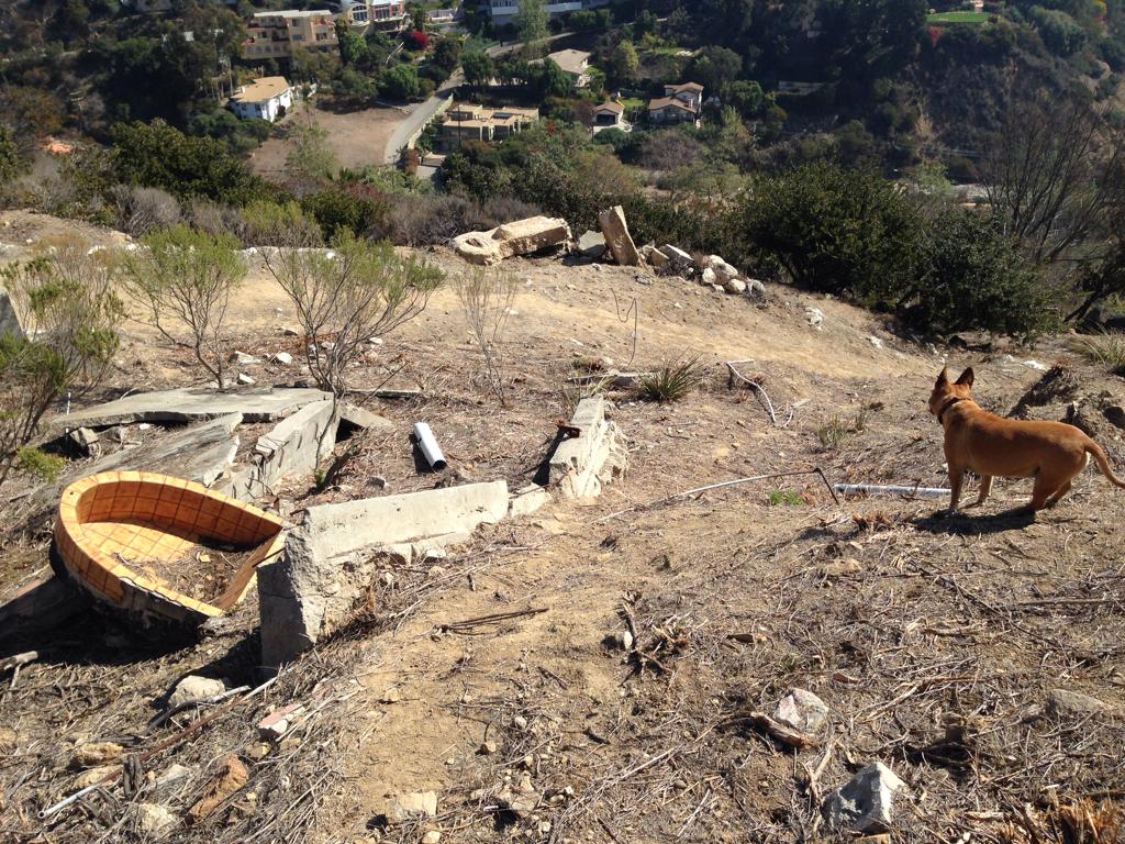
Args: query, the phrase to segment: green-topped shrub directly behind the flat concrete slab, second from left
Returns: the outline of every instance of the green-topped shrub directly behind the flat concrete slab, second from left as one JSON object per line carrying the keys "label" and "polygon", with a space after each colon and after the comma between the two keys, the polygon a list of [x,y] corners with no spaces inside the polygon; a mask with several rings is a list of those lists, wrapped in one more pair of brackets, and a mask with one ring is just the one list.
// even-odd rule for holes
{"label": "green-topped shrub directly behind the flat concrete slab, second from left", "polygon": [[[177,345],[189,347],[223,388],[223,323],[231,294],[246,275],[237,239],[177,225],[152,232],[142,242],[145,249],[125,262],[126,291],[145,308],[156,331]],[[188,339],[177,331],[186,332]]]}

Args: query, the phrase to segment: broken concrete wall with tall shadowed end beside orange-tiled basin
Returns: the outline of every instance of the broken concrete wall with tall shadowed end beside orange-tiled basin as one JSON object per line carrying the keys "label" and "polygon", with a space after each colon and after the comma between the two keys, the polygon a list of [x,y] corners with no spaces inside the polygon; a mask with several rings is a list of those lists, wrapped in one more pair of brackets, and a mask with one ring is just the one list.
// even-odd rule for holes
{"label": "broken concrete wall with tall shadowed end beside orange-tiled basin", "polygon": [[291,662],[344,621],[379,551],[411,559],[465,541],[507,511],[504,481],[309,508],[281,558],[258,568],[263,665]]}

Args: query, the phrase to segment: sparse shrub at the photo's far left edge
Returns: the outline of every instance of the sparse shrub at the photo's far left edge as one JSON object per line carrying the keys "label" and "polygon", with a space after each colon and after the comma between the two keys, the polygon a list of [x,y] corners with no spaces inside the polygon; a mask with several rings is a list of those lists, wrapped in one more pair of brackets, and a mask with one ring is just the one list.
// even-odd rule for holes
{"label": "sparse shrub at the photo's far left edge", "polygon": [[114,294],[118,257],[80,239],[47,241],[38,255],[0,270],[22,333],[0,334],[0,483],[17,463],[47,467],[27,448],[68,392],[101,383],[124,317]]}

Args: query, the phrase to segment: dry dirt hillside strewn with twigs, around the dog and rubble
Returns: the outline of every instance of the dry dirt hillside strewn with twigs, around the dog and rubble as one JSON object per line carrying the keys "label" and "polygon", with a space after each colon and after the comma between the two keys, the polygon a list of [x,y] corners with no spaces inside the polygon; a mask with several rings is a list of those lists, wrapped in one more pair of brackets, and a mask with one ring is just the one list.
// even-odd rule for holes
{"label": "dry dirt hillside strewn with twigs, around the dog and rubble", "polygon": [[[57,225],[6,219],[9,258]],[[444,250],[426,257],[459,268]],[[539,472],[556,420],[575,399],[568,379],[592,359],[649,369],[701,354],[703,383],[680,403],[611,394],[629,440],[628,475],[596,502],[556,501],[446,559],[387,562],[353,623],[255,697],[206,709],[214,719],[183,740],[174,730],[190,713],[146,729],[179,677],[260,680],[253,599],[228,626],[181,646],[138,639],[92,612],[52,637],[6,643],[0,658],[28,647],[40,658],[0,691],[3,835],[854,839],[826,827],[820,799],[881,761],[906,782],[894,841],[1119,839],[1125,493],[1090,469],[1035,520],[1002,514],[1027,495],[1028,483],[1014,481],[998,483],[983,511],[955,518],[935,515],[942,501],[837,505],[816,476],[676,494],[810,467],[835,482],[944,486],[940,429],[925,402],[946,360],[958,370],[972,365],[980,402],[1001,413],[1043,377],[1024,361],[1063,363],[1074,383],[1045,390],[1026,412],[1058,419],[1079,399],[1080,421],[1120,472],[1123,432],[1098,407],[1122,404],[1125,380],[1082,362],[1065,340],[1033,350],[925,349],[871,314],[778,287],[756,306],[639,270],[551,258],[504,267],[521,280],[507,408],[484,389],[457,298],[444,290],[354,374],[364,388],[388,378],[422,388],[418,398],[368,402],[395,429],[361,436],[360,457],[336,487],[314,495],[312,478],[297,479],[284,501],[264,503],[299,509],[444,483],[412,458],[416,420],[433,427],[454,482],[503,477],[516,487]],[[632,317],[619,318],[633,303],[636,340]],[[819,330],[809,306],[824,313]],[[299,341],[279,331],[291,311],[260,268],[232,316],[232,348],[299,356]],[[128,332],[112,390],[204,380],[143,326]],[[792,408],[788,424],[771,423],[752,392],[728,384],[722,361],[735,359],[749,359],[740,369],[764,384],[778,422]],[[246,371],[259,384],[300,377],[296,367]],[[825,447],[834,419],[845,433]],[[384,491],[369,484],[377,474]],[[772,503],[771,493],[790,493],[774,496],[790,503]],[[14,536],[8,548],[0,572],[9,586],[43,567],[42,536]],[[497,613],[514,614],[477,621]],[[632,650],[608,641],[630,629]],[[746,717],[771,711],[794,686],[830,708],[827,733],[800,751]],[[1048,703],[1060,688],[1104,708]],[[263,743],[258,720],[295,702],[305,720]],[[38,819],[79,788],[83,774],[71,760],[86,740],[140,754],[129,763],[140,775]],[[189,823],[188,808],[228,754],[246,766],[246,781]],[[160,784],[173,764],[187,774]],[[505,808],[521,787],[536,796],[526,811]],[[388,797],[431,790],[435,817],[387,821]],[[168,808],[174,821],[153,833],[141,803]],[[1090,827],[1101,837],[1080,837]]]}

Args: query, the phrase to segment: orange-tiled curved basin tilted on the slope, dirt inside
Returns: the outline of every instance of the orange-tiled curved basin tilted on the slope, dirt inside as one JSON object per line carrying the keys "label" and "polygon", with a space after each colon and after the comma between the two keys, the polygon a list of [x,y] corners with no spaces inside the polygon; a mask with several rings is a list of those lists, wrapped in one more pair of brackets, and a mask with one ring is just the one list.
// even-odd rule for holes
{"label": "orange-tiled curved basin tilted on the slope, dirt inside", "polygon": [[[246,594],[256,567],[284,545],[281,520],[272,513],[146,472],[106,472],[74,482],[63,491],[55,521],[55,550],[68,573],[102,602],[144,622],[199,625],[223,614]],[[201,600],[173,586],[178,565],[190,569],[199,560],[226,560],[226,554],[238,555],[237,568],[214,584],[222,586],[215,596]]]}

